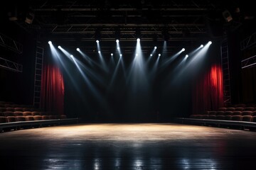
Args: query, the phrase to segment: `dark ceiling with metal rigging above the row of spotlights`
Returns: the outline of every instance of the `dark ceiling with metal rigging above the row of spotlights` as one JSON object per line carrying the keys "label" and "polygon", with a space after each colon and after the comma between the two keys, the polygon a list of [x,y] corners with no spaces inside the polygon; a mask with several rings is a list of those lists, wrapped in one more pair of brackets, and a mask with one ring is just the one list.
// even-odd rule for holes
{"label": "dark ceiling with metal rigging above the row of spotlights", "polygon": [[[255,21],[238,1],[28,1],[11,4],[9,16],[39,38],[79,45],[94,42],[168,40],[172,49],[225,37],[245,21]],[[25,22],[25,18],[28,17]],[[72,43],[70,43],[72,42]],[[129,46],[129,43],[127,43]]]}

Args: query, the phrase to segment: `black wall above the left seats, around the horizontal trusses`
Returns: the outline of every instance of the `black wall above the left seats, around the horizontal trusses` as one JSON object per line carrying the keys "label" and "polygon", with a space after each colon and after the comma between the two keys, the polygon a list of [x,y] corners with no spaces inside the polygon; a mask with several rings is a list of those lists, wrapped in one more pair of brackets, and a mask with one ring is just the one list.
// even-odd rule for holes
{"label": "black wall above the left seats, around the horizontal trusses", "polygon": [[1,58],[23,65],[23,72],[13,72],[0,68],[0,100],[14,103],[33,104],[33,79],[36,56],[35,35],[8,20],[6,11],[1,11],[0,33],[20,42],[23,52],[18,54],[4,46],[0,46]]}

